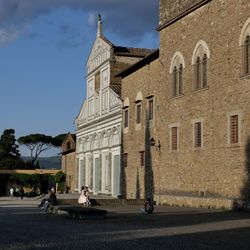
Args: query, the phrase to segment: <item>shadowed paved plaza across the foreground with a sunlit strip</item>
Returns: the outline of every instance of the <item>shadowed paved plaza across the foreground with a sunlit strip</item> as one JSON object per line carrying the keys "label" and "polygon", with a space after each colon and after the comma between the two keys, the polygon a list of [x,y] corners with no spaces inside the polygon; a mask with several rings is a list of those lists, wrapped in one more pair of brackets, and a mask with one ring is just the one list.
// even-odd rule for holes
{"label": "shadowed paved plaza across the foreground with a sunlit strip", "polygon": [[250,249],[250,213],[156,206],[105,207],[106,219],[41,214],[37,199],[0,198],[0,250]]}

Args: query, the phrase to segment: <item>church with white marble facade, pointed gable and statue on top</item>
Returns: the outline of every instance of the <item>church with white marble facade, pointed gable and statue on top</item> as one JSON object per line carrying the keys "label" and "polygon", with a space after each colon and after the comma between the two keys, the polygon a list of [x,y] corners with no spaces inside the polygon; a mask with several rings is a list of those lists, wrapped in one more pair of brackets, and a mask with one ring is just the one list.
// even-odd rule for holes
{"label": "church with white marble facade, pointed gable and statue on top", "polygon": [[76,119],[77,182],[95,194],[121,194],[121,78],[117,73],[136,63],[148,49],[115,46],[98,31],[87,61],[87,96]]}

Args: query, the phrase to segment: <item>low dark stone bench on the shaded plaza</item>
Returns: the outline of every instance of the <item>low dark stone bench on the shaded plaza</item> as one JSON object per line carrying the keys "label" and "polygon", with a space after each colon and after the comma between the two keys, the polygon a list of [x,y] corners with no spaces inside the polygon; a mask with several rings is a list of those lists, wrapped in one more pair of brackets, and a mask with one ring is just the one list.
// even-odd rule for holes
{"label": "low dark stone bench on the shaded plaza", "polygon": [[107,210],[92,207],[67,206],[58,207],[57,210],[67,212],[73,219],[104,219],[107,214]]}

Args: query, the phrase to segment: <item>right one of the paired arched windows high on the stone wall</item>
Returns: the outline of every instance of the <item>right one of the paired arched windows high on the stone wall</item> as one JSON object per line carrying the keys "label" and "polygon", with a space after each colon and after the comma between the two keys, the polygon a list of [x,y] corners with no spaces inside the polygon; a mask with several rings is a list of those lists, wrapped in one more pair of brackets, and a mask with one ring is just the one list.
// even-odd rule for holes
{"label": "right one of the paired arched windows high on the stone wall", "polygon": [[210,51],[206,42],[200,40],[192,57],[193,66],[193,90],[205,89],[208,87],[208,61]]}

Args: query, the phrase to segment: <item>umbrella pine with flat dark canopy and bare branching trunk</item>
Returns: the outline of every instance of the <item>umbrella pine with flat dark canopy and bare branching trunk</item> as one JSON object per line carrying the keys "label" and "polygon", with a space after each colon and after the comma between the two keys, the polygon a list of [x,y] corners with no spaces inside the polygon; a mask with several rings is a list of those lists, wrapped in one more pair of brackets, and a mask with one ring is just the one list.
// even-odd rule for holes
{"label": "umbrella pine with flat dark canopy and bare branching trunk", "polygon": [[18,142],[20,145],[24,145],[30,150],[31,165],[35,167],[37,157],[44,151],[61,146],[64,137],[65,134],[56,137],[44,134],[30,134],[20,137]]}

